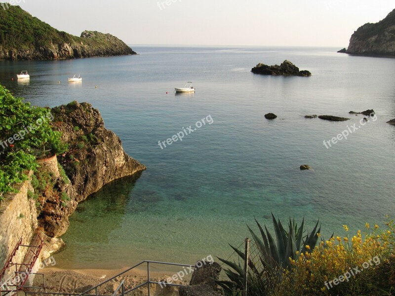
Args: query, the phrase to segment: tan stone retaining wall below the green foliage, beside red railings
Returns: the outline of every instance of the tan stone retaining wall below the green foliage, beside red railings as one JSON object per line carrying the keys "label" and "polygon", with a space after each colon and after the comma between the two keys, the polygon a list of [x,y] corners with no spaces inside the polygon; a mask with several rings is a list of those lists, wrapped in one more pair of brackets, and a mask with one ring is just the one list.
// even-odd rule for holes
{"label": "tan stone retaining wall below the green foliage, beside red railings", "polygon": [[[33,172],[29,173],[29,179]],[[30,181],[25,181],[16,194],[5,194],[5,202],[0,208],[0,269],[22,237],[22,244],[29,245],[38,226],[35,201],[28,198],[28,190],[33,191]],[[14,262],[22,262],[27,247],[20,247]],[[7,279],[15,271],[15,266],[5,273]]]}

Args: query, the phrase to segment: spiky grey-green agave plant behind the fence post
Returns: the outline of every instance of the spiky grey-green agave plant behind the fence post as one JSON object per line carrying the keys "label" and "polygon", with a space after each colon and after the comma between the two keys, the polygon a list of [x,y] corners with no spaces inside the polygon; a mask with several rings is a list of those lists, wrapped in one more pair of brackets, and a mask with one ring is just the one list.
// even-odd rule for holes
{"label": "spiky grey-green agave plant behind the fence post", "polygon": [[[248,295],[268,295],[276,287],[280,280],[281,273],[284,269],[289,268],[290,259],[298,260],[300,253],[311,253],[316,247],[318,241],[317,233],[320,232],[321,226],[318,227],[319,221],[314,229],[304,235],[305,219],[303,218],[300,227],[295,220],[288,222],[288,230],[282,226],[282,223],[274,217],[272,213],[273,226],[276,233],[276,240],[266,227],[265,229],[255,219],[261,236],[257,235],[248,225],[252,235],[254,246],[259,251],[259,258],[255,261],[248,261]],[[225,269],[225,273],[230,281],[218,281],[218,284],[224,289],[225,295],[235,295],[235,291],[243,290],[243,279],[245,276],[244,260],[245,255],[234,246],[230,245],[239,256],[238,262],[232,262],[218,258],[231,269]],[[237,294],[236,294],[237,295]]]}

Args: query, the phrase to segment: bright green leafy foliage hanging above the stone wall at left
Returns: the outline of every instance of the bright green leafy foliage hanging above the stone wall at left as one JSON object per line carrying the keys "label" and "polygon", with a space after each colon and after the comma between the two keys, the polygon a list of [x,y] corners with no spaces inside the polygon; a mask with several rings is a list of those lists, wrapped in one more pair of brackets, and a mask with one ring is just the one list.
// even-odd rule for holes
{"label": "bright green leafy foliage hanging above the stone wall at left", "polygon": [[[36,170],[36,158],[63,153],[67,145],[50,125],[49,109],[33,107],[0,85],[0,200]],[[34,181],[33,181],[34,182]]]}

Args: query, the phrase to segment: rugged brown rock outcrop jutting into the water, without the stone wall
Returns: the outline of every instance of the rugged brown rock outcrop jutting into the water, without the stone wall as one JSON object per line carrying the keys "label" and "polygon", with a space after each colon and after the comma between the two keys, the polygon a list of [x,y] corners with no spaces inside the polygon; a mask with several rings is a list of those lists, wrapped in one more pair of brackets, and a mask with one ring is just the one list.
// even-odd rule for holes
{"label": "rugged brown rock outcrop jutting into the water, without the stone wall", "polygon": [[[46,235],[59,237],[66,232],[68,217],[80,201],[111,181],[134,175],[146,167],[123,151],[118,136],[104,127],[100,112],[90,104],[72,102],[53,108],[51,113],[54,127],[69,144],[68,152],[57,156],[67,176],[59,173],[56,156],[45,160],[46,168],[40,164],[39,179],[44,170],[52,179],[47,184],[54,185],[39,197],[38,219]],[[63,192],[67,193],[67,199],[62,197]]]}

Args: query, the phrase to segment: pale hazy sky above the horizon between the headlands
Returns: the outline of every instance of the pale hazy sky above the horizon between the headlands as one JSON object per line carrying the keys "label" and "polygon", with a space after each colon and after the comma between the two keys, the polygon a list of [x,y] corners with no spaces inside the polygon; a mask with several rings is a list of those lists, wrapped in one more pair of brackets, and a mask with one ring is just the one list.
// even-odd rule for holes
{"label": "pale hazy sky above the horizon between the headlands", "polygon": [[19,0],[33,16],[79,36],[111,33],[128,44],[347,47],[394,0]]}

